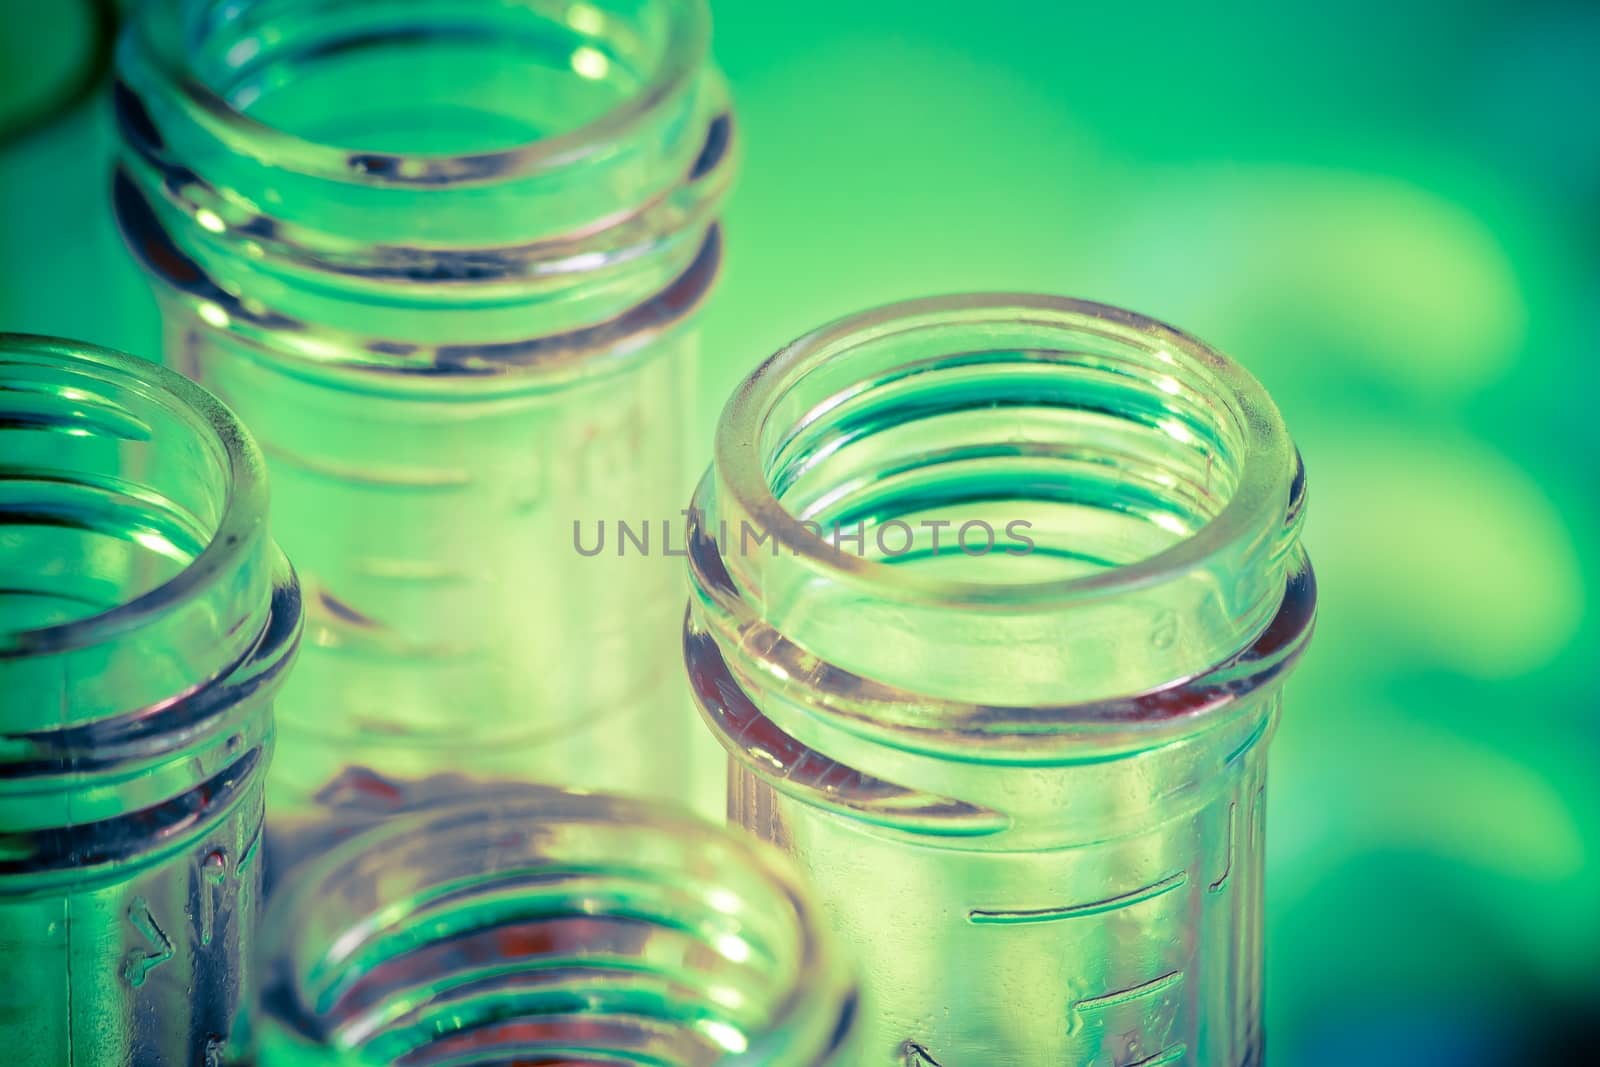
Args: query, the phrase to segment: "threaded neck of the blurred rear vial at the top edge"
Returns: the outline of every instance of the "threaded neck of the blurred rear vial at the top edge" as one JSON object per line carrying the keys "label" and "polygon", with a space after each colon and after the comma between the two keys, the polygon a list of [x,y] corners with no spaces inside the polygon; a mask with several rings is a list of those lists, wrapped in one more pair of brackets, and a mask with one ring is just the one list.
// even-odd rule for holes
{"label": "threaded neck of the blurred rear vial at the top edge", "polygon": [[203,322],[290,358],[592,355],[715,275],[731,122],[706,42],[704,8],[664,0],[146,5],[118,59],[118,219]]}

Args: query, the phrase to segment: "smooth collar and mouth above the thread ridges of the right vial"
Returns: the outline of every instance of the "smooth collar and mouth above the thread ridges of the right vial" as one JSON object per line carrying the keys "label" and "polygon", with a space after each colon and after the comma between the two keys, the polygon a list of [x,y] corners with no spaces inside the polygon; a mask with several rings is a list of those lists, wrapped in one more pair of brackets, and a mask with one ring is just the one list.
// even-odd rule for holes
{"label": "smooth collar and mouth above the thread ridges of the right vial", "polygon": [[722,541],[701,584],[720,566],[819,662],[1037,709],[1246,649],[1283,601],[1304,477],[1272,402],[1202,342],[1115,309],[965,298],[763,365],[698,504]]}

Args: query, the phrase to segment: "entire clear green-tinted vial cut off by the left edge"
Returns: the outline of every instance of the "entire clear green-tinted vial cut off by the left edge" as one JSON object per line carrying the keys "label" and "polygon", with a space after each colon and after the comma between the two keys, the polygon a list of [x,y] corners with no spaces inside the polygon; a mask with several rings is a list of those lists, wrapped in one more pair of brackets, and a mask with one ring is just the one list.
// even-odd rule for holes
{"label": "entire clear green-tinted vial cut off by the left edge", "polygon": [[234,1062],[272,696],[299,638],[262,461],[178,374],[0,334],[0,1046]]}

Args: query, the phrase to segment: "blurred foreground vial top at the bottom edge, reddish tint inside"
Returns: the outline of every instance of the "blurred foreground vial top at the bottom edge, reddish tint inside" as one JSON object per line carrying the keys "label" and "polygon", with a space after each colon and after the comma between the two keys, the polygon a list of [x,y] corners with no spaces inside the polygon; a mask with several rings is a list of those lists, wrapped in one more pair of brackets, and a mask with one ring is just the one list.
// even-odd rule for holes
{"label": "blurred foreground vial top at the bottom edge, reddish tint inside", "polygon": [[821,1067],[854,979],[776,849],[494,787],[394,816],[274,905],[264,1067]]}

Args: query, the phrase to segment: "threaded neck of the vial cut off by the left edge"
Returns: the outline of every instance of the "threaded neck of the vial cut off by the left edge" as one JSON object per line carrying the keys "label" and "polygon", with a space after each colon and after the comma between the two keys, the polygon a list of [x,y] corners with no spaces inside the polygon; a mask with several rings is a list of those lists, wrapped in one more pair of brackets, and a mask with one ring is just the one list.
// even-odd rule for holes
{"label": "threaded neck of the vial cut off by the left edge", "polygon": [[264,763],[299,600],[261,458],[197,386],[18,334],[0,378],[0,873],[75,877]]}

